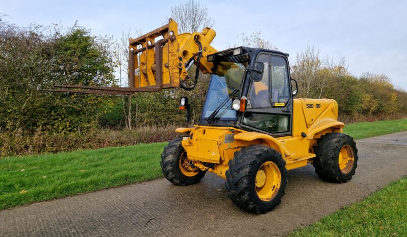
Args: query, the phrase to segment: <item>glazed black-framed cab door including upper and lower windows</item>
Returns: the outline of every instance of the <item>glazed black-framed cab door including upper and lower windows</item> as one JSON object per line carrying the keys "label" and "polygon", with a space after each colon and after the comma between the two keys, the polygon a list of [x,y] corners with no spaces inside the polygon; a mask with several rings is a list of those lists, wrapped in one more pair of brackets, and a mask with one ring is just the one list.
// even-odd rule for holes
{"label": "glazed black-framed cab door including upper and lower windows", "polygon": [[293,103],[287,57],[262,52],[256,61],[264,63],[263,77],[250,82],[241,126],[272,136],[291,135]]}

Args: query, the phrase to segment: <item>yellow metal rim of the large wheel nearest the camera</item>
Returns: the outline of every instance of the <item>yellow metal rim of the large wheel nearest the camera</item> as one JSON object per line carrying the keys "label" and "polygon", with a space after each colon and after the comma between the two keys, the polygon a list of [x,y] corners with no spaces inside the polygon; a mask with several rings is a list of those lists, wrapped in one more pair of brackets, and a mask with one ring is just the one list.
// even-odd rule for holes
{"label": "yellow metal rim of the large wheel nearest the camera", "polygon": [[281,172],[274,162],[267,161],[256,173],[256,193],[263,201],[269,201],[277,195],[281,185]]}

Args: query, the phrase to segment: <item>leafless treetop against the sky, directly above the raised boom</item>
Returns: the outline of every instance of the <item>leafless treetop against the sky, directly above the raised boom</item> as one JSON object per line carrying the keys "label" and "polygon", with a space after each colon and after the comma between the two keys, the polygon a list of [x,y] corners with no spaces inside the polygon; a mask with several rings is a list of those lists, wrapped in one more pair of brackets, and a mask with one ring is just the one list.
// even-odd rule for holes
{"label": "leafless treetop against the sky, directly above the raised boom", "polygon": [[180,34],[201,31],[205,27],[215,25],[215,21],[208,15],[208,8],[194,0],[171,7],[171,14],[167,18],[172,18],[178,23]]}

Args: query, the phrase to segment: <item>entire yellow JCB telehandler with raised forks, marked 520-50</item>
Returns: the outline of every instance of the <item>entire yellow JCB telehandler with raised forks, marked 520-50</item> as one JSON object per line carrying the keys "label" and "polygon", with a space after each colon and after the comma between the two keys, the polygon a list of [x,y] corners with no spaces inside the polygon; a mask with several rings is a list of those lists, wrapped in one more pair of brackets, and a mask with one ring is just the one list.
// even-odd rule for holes
{"label": "entire yellow JCB telehandler with raised forks, marked 520-50", "polygon": [[[272,210],[285,193],[287,172],[312,163],[325,181],[352,178],[358,150],[342,133],[338,104],[332,99],[294,99],[297,82],[290,77],[288,54],[236,47],[217,51],[216,33],[178,34],[169,23],[130,39],[129,87],[56,85],[58,92],[133,94],[186,86],[193,64],[211,80],[200,120],[178,128],[182,135],[161,155],[164,176],[176,185],[198,183],[207,171],[226,180],[239,208],[252,213]],[[80,89],[80,90],[77,90]],[[85,89],[85,90],[82,90]],[[188,109],[181,98],[180,109]]]}

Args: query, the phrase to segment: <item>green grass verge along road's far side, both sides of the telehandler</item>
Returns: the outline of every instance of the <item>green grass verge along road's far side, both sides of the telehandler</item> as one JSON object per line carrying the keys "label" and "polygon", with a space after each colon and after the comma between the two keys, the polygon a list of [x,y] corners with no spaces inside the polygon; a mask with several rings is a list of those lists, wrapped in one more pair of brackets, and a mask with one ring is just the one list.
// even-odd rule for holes
{"label": "green grass verge along road's far side, both sides of the telehandler", "polygon": [[[407,130],[407,120],[349,124],[355,139]],[[162,177],[166,142],[0,159],[0,210]]]}

